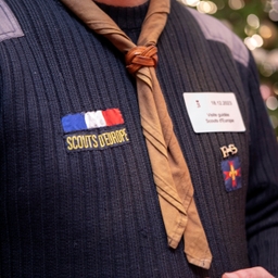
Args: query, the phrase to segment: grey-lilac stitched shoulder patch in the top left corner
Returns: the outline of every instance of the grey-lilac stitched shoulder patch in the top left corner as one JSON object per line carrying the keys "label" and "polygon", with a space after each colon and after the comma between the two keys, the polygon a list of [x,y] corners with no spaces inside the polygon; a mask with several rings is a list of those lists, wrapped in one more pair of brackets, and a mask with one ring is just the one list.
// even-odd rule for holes
{"label": "grey-lilac stitched shoulder patch in the top left corner", "polygon": [[23,36],[23,30],[10,7],[0,0],[0,42]]}

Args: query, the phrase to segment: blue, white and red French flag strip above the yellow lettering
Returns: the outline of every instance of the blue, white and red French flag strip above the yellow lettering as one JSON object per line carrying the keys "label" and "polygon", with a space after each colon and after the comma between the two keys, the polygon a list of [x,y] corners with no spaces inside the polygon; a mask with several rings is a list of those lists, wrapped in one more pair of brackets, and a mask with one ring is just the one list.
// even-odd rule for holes
{"label": "blue, white and red French flag strip above the yellow lettering", "polygon": [[62,117],[62,126],[65,132],[116,126],[122,124],[124,124],[124,118],[119,109],[68,114]]}

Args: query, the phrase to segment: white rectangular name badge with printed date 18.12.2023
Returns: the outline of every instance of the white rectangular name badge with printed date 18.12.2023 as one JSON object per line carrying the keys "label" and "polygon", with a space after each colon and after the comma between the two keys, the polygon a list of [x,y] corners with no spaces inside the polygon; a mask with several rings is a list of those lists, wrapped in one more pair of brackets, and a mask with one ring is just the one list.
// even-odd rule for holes
{"label": "white rectangular name badge with printed date 18.12.2023", "polygon": [[184,99],[197,134],[245,131],[235,93],[185,92]]}

